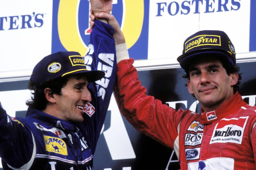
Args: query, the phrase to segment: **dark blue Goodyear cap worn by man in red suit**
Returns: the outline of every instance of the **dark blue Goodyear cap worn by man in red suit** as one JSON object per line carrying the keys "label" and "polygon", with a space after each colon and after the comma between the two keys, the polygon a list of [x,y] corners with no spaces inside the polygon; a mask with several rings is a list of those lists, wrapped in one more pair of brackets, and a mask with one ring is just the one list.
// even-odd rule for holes
{"label": "dark blue Goodyear cap worn by man in red suit", "polygon": [[180,67],[187,69],[189,63],[198,56],[219,56],[236,64],[235,47],[223,31],[204,30],[196,32],[184,41],[182,55],[177,60]]}

